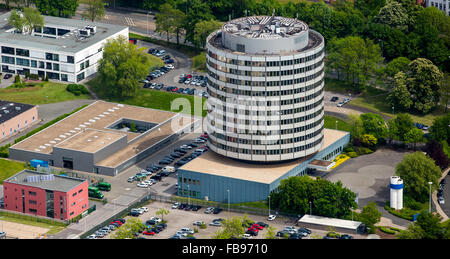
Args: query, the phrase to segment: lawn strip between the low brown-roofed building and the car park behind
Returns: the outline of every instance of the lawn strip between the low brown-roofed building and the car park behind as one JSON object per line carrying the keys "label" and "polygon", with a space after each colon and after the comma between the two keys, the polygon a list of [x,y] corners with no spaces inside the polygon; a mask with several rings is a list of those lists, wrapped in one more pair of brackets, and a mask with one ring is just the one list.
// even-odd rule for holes
{"label": "lawn strip between the low brown-roofed building and the car park behind", "polygon": [[[92,89],[95,91],[97,85],[99,84],[98,78],[94,78],[89,81],[89,84]],[[206,110],[203,110],[203,105],[206,102],[205,98],[200,96],[192,96],[186,94],[176,94],[167,92],[165,90],[152,90],[152,89],[144,89],[140,88],[138,93],[132,98],[108,98],[102,96],[102,93],[97,92],[98,96],[106,101],[117,102],[129,105],[136,105],[146,108],[171,111],[171,112],[181,112],[185,114],[194,114],[197,111],[194,110],[194,105],[198,105],[199,113],[195,115],[206,116]],[[186,107],[180,107],[176,105],[177,103],[182,104]],[[173,106],[173,108],[172,108]],[[190,108],[189,108],[190,106]]]}

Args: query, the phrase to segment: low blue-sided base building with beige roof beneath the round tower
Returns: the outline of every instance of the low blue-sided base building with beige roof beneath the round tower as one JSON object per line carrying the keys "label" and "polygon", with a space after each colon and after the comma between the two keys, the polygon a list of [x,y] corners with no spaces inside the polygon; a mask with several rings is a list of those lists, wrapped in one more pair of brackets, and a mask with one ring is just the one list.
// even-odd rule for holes
{"label": "low blue-sided base building with beige roof beneath the round tower", "polygon": [[223,203],[228,195],[230,203],[265,200],[281,180],[305,175],[313,161],[334,159],[349,141],[348,132],[324,129],[316,154],[282,163],[249,163],[208,151],[178,168],[178,195]]}

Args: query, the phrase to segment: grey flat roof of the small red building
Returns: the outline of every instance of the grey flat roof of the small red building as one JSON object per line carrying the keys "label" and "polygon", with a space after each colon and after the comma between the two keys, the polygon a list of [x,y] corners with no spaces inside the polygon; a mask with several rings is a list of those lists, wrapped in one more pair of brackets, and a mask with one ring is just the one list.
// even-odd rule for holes
{"label": "grey flat roof of the small red building", "polygon": [[49,191],[60,191],[60,192],[68,192],[73,188],[77,187],[81,183],[87,181],[85,179],[73,178],[68,176],[54,175],[54,179],[51,181],[39,181],[39,182],[28,182],[28,176],[36,176],[36,175],[47,175],[45,173],[40,173],[32,170],[23,170],[8,179],[5,182],[16,183],[26,186],[32,186],[41,188]]}

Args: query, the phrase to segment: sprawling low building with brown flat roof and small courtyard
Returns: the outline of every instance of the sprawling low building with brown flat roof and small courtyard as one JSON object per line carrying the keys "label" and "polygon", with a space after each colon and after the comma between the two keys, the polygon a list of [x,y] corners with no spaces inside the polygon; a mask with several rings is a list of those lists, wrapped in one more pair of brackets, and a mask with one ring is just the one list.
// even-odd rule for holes
{"label": "sprawling low building with brown flat roof and small courtyard", "polygon": [[13,145],[10,158],[114,176],[189,132],[193,123],[188,115],[96,101]]}

